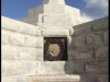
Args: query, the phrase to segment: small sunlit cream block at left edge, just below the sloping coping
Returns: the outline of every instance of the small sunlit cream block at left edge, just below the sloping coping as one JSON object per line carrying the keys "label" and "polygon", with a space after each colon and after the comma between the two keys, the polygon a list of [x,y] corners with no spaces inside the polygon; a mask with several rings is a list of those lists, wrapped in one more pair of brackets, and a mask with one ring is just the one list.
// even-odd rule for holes
{"label": "small sunlit cream block at left edge, just below the sloping coping", "polygon": [[2,44],[9,44],[9,31],[1,30],[1,43]]}

